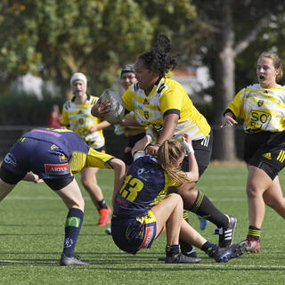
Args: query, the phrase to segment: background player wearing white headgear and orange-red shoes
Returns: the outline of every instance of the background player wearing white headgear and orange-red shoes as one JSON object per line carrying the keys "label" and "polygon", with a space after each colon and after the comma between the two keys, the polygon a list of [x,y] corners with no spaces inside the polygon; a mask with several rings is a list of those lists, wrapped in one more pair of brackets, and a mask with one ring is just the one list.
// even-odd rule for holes
{"label": "background player wearing white headgear and orange-red shoes", "polygon": [[[110,124],[101,118],[95,118],[90,110],[98,97],[86,93],[87,79],[83,73],[77,72],[70,78],[73,98],[65,102],[62,108],[61,126],[79,134],[95,151],[105,151],[105,138],[102,129]],[[110,224],[111,209],[106,204],[102,189],[97,183],[97,167],[86,167],[81,171],[81,182],[88,191],[94,206],[100,214],[97,225]]]}

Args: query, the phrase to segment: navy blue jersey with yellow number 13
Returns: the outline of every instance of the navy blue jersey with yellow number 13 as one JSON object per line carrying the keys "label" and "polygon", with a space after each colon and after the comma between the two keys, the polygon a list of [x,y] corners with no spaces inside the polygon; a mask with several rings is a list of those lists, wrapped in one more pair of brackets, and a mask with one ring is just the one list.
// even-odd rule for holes
{"label": "navy blue jersey with yellow number 13", "polygon": [[138,155],[117,195],[114,216],[145,216],[151,208],[151,202],[175,184],[159,166],[157,159],[142,153]]}

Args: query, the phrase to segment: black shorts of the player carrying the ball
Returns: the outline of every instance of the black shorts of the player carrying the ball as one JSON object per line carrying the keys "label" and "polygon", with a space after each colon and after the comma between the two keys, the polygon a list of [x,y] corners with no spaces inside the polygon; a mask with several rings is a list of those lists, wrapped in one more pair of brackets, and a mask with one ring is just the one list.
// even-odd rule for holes
{"label": "black shorts of the player carrying the ball", "polygon": [[[195,158],[199,167],[199,177],[204,173],[210,163],[213,151],[213,132],[211,132],[202,140],[192,141],[192,147],[195,151]],[[188,157],[183,159],[182,170],[189,171]]]}

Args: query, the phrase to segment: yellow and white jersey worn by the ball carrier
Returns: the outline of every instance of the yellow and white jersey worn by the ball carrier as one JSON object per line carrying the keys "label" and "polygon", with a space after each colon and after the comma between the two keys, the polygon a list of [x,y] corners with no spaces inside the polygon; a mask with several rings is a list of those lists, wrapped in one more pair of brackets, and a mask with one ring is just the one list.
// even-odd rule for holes
{"label": "yellow and white jersey worn by the ball carrier", "polygon": [[122,96],[126,110],[134,111],[142,126],[150,126],[158,135],[163,129],[163,119],[171,113],[179,116],[175,139],[190,134],[192,140],[205,138],[210,132],[207,119],[194,107],[182,85],[173,79],[162,77],[146,95],[138,83],[131,85]]}

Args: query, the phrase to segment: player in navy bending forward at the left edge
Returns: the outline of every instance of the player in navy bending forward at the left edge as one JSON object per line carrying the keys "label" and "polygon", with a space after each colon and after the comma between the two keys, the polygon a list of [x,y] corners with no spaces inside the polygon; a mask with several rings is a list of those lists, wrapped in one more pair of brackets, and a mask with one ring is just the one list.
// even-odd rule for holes
{"label": "player in navy bending forward at the left edge", "polygon": [[7,153],[0,168],[0,200],[20,180],[37,183],[39,176],[69,208],[60,265],[88,265],[74,256],[85,202],[73,174],[85,167],[113,168],[114,189],[120,189],[126,171],[124,162],[94,151],[78,134],[68,129],[36,128],[23,134]]}

